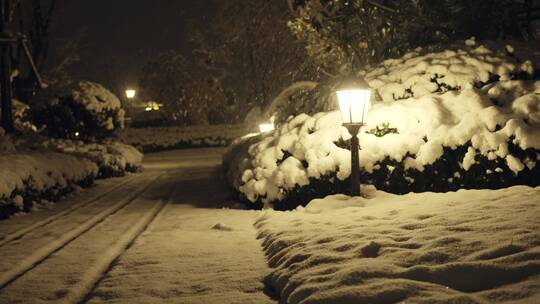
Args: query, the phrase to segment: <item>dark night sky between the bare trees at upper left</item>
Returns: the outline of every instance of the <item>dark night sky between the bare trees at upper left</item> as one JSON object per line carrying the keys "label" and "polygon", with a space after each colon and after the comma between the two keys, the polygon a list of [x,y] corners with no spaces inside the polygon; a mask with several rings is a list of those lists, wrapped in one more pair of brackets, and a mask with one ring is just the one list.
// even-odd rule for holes
{"label": "dark night sky between the bare trees at upper left", "polygon": [[[74,77],[113,90],[136,84],[141,67],[159,52],[190,53],[185,20],[204,20],[211,0],[58,1],[49,64],[58,62],[65,41],[78,41]],[[112,83],[115,82],[115,83]]]}

